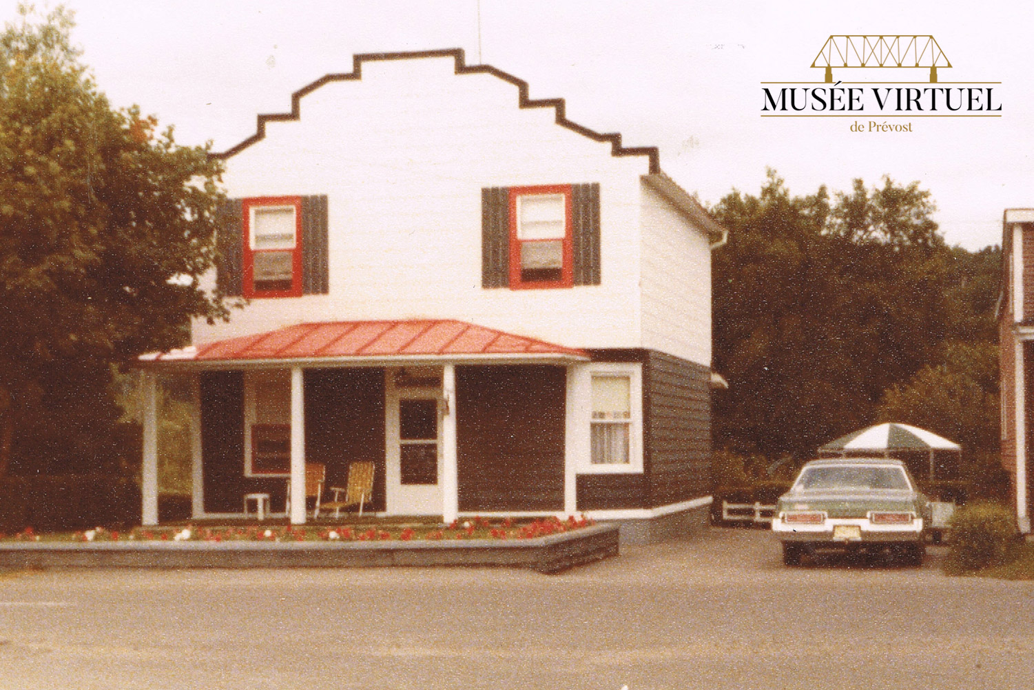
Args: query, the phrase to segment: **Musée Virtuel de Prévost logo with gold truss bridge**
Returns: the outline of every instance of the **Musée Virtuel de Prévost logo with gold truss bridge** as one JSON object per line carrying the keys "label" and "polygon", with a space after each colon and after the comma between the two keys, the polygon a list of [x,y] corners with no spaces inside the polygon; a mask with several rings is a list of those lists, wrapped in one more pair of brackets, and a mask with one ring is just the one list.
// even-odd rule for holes
{"label": "Mus\u00e9e Virtuel de Pr\u00e9vost logo with gold truss bridge", "polygon": [[875,117],[865,130],[912,131],[882,118],[1002,116],[1001,82],[952,81],[956,68],[932,35],[830,35],[805,73],[818,69],[821,81],[762,82],[761,117]]}

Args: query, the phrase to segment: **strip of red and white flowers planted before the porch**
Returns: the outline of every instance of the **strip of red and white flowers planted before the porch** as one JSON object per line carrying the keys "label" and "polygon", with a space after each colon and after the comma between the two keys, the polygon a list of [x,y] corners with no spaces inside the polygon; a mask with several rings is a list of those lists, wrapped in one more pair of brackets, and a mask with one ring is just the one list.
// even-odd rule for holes
{"label": "strip of red and white flowers planted before the porch", "polygon": [[0,534],[2,541],[63,541],[63,542],[112,542],[112,541],[443,541],[443,540],[507,540],[535,539],[554,534],[564,534],[592,524],[585,516],[570,516],[566,520],[546,517],[517,522],[512,518],[488,520],[474,517],[454,521],[452,524],[340,524],[337,527],[313,524],[287,524],[267,527],[147,527],[134,528],[128,532],[105,530],[102,527],[83,532],[36,534],[32,528],[16,535]]}

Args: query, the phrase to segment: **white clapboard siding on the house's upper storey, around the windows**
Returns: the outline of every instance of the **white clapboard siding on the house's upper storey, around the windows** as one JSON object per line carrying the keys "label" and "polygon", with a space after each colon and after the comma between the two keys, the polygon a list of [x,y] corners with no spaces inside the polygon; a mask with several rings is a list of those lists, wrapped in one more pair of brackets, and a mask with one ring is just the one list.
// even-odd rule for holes
{"label": "white clapboard siding on the house's upper storey, around the windows", "polygon": [[[330,293],[252,300],[229,324],[195,323],[195,341],[306,321],[449,318],[569,347],[647,347],[640,271],[659,261],[641,257],[656,244],[640,241],[640,214],[653,208],[641,202],[647,156],[611,155],[609,142],[557,125],[553,108],[520,109],[515,85],[456,74],[452,57],[365,62],[361,80],[304,96],[300,116],[267,122],[265,139],[226,159],[224,181],[231,198],[328,196]],[[600,286],[481,287],[483,187],[591,182],[601,190]],[[709,287],[704,254],[672,261],[703,270],[694,281]],[[669,282],[658,283],[659,298]],[[694,337],[709,340],[709,291],[700,295],[704,316],[691,325],[706,325]],[[666,327],[659,307],[650,319]],[[649,339],[706,362],[706,350],[682,337]]]}

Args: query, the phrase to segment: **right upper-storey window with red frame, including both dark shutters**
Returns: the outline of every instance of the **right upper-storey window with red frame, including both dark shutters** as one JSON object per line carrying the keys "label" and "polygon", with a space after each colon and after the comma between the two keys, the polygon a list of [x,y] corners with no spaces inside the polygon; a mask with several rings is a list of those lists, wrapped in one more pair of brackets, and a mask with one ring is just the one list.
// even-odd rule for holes
{"label": "right upper-storey window with red frame, including both dark shutters", "polygon": [[600,284],[600,185],[481,190],[482,288]]}

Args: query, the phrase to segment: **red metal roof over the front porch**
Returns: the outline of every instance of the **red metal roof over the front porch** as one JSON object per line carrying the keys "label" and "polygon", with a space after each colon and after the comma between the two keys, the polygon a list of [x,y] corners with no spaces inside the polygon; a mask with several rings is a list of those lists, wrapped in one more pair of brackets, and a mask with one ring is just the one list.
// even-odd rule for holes
{"label": "red metal roof over the front porch", "polygon": [[537,338],[455,320],[299,324],[266,333],[141,355],[140,364],[225,367],[312,364],[370,366],[424,362],[587,361],[588,355]]}

